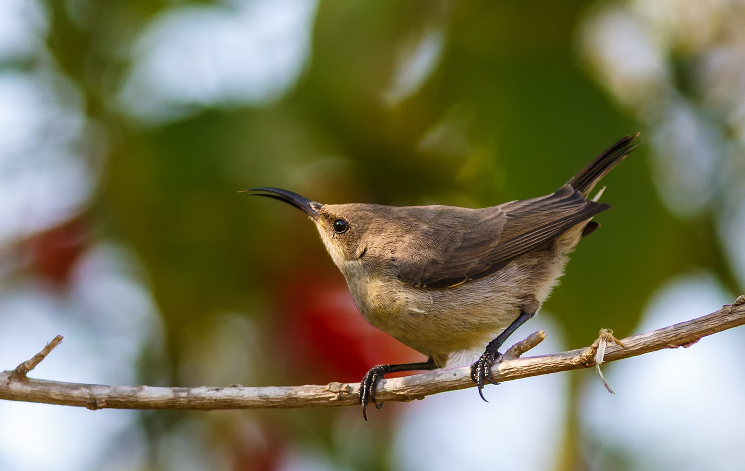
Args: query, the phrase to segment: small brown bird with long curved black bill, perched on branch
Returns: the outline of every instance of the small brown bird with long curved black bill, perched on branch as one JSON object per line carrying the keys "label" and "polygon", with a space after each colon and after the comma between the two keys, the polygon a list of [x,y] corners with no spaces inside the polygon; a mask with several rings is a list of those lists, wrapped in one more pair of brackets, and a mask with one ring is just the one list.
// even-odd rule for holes
{"label": "small brown bird with long curved black bill, perched on branch", "polygon": [[454,353],[483,349],[471,366],[486,400],[499,348],[532,318],[559,282],[568,255],[600,227],[611,206],[590,198],[597,182],[638,144],[627,135],[554,193],[489,208],[315,202],[281,188],[243,190],[304,211],[374,327],[423,353],[426,362],[375,365],[361,380],[367,406],[385,374],[443,368]]}

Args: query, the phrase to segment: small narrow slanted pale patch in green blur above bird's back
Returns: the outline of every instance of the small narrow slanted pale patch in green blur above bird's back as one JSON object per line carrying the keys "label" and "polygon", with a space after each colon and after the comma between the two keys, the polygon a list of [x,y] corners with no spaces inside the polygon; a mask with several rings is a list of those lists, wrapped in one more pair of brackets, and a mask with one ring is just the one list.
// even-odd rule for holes
{"label": "small narrow slanted pale patch in green blur above bird's back", "polygon": [[393,71],[393,83],[385,94],[388,106],[396,106],[424,85],[440,63],[444,45],[444,31],[432,29],[419,42],[402,47]]}

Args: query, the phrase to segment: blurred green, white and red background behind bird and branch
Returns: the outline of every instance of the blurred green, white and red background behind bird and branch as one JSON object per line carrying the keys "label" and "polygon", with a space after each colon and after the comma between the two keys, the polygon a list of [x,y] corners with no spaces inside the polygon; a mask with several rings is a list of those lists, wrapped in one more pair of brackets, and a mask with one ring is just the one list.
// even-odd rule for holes
{"label": "blurred green, white and red background behind bird and branch", "polygon": [[[717,310],[745,284],[738,0],[0,0],[0,368],[150,385],[358,381],[420,361],[357,313],[320,202],[494,205],[601,150],[614,205],[517,336],[537,352]],[[741,470],[745,331],[387,404],[0,403],[0,469]],[[466,365],[470,358],[455,359]]]}

